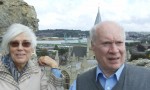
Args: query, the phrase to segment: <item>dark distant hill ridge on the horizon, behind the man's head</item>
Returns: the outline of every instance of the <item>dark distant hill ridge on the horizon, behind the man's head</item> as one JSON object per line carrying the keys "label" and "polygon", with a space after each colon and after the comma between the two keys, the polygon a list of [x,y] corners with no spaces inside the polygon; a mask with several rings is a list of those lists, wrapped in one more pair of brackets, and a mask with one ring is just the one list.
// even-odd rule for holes
{"label": "dark distant hill ridge on the horizon, behind the man's head", "polygon": [[[36,33],[37,37],[88,37],[89,31],[70,30],[70,29],[47,29],[39,30]],[[150,32],[126,32],[127,40],[150,40]]]}

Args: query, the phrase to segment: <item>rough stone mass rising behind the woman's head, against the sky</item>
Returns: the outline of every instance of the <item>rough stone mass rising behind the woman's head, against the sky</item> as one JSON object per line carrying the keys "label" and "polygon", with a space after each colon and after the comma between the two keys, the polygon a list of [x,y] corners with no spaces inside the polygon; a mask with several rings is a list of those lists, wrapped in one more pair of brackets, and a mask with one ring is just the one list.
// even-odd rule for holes
{"label": "rough stone mass rising behind the woman's head, against the sky", "polygon": [[12,23],[22,23],[38,30],[38,19],[33,6],[23,0],[0,0],[0,35]]}

